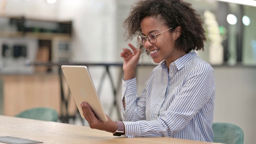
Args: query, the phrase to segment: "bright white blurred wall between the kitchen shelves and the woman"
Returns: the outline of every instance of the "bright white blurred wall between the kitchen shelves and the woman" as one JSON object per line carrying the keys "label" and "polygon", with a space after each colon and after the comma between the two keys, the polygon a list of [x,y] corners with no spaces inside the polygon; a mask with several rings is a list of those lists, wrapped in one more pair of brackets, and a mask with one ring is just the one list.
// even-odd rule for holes
{"label": "bright white blurred wall between the kitchen shelves and the woman", "polygon": [[58,18],[72,19],[74,61],[116,61],[115,0],[61,0]]}

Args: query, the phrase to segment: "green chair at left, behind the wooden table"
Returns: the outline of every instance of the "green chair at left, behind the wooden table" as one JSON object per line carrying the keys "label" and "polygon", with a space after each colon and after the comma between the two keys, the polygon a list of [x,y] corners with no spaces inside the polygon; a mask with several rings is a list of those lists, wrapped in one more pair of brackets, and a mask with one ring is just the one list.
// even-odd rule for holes
{"label": "green chair at left, behind the wooden table", "polygon": [[58,112],[53,108],[38,107],[24,110],[17,114],[16,117],[57,122]]}

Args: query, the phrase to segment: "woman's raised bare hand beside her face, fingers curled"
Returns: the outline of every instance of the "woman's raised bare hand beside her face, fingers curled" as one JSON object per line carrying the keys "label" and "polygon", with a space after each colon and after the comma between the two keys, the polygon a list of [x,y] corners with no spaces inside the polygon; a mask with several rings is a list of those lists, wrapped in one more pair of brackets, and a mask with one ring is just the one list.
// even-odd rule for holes
{"label": "woman's raised bare hand beside her face, fingers curled", "polygon": [[137,50],[132,44],[128,43],[128,46],[132,51],[128,48],[123,48],[123,51],[120,53],[120,56],[124,58],[124,80],[129,80],[135,77],[135,70],[141,54],[141,50]]}

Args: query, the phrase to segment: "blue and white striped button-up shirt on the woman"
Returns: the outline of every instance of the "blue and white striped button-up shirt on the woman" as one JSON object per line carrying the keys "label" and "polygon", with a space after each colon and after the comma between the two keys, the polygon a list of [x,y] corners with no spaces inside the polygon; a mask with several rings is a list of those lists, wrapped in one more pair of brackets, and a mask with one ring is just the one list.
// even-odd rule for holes
{"label": "blue and white striped button-up shirt on the woman", "polygon": [[165,136],[212,142],[215,80],[210,64],[190,52],[156,66],[140,97],[136,78],[123,80],[127,137]]}

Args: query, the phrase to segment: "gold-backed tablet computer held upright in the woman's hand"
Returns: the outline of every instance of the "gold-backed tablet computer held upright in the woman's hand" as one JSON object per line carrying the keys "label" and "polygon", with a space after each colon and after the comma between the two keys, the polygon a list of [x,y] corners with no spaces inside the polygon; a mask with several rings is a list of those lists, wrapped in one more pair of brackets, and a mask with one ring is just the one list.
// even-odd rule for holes
{"label": "gold-backed tablet computer held upright in the woman's hand", "polygon": [[87,102],[99,120],[107,121],[107,116],[102,108],[87,67],[61,66],[61,69],[82,118],[84,118],[84,115],[80,104]]}

